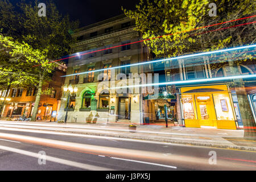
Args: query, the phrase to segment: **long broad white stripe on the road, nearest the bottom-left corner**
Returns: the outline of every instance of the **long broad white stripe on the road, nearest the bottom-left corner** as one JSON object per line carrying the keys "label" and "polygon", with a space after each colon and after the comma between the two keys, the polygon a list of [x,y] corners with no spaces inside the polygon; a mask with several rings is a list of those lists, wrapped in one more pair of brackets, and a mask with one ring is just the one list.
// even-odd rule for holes
{"label": "long broad white stripe on the road, nearest the bottom-left corner", "polygon": [[[0,149],[15,152],[15,153],[22,154],[22,155],[31,156],[31,157],[34,157],[34,158],[39,158],[39,154],[37,154],[37,153],[29,152],[29,151],[25,151],[25,150],[20,150],[20,149],[17,149],[17,148],[0,146]],[[48,156],[48,155],[46,155],[46,161],[60,163],[60,164],[64,164],[64,165],[67,165],[67,166],[82,168],[82,169],[86,169],[86,170],[95,170],[95,171],[113,170],[113,169],[104,168],[104,167],[92,166],[92,165],[89,165],[89,164],[77,163],[77,162],[73,162],[71,160],[54,158],[54,157],[51,157],[51,156]]]}

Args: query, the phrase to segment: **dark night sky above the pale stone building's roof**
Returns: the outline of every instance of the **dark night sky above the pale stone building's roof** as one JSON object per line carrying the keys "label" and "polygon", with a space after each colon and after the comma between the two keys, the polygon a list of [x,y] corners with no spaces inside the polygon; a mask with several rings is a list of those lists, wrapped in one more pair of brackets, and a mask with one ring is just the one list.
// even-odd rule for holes
{"label": "dark night sky above the pale stone building's roof", "polygon": [[[14,4],[20,2],[20,0],[9,1]],[[47,0],[39,0],[38,2],[43,3]],[[80,27],[83,27],[123,14],[121,6],[125,9],[134,10],[139,0],[52,0],[52,2],[56,4],[62,15],[69,14],[72,20],[79,19]]]}

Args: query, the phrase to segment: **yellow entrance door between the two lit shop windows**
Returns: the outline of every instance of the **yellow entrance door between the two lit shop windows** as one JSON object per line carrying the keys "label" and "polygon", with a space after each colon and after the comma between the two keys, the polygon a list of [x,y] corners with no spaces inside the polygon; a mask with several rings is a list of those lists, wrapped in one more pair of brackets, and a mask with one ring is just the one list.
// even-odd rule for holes
{"label": "yellow entrance door between the two lit shop windows", "polygon": [[196,96],[196,109],[200,126],[214,126],[215,111],[212,98],[209,95]]}

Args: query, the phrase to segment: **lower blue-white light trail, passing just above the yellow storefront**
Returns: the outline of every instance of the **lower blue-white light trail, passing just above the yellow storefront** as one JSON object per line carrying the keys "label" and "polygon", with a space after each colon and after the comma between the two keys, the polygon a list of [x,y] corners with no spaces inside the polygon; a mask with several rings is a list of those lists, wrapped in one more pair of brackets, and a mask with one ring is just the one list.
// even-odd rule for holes
{"label": "lower blue-white light trail, passing just above the yellow storefront", "polygon": [[228,77],[217,77],[217,78],[205,78],[197,80],[184,80],[184,81],[170,81],[170,82],[160,82],[154,84],[141,84],[141,85],[126,85],[118,86],[110,89],[122,89],[122,88],[134,88],[134,87],[146,87],[146,86],[159,86],[159,85],[179,85],[179,84],[195,84],[199,82],[212,82],[212,81],[224,81],[242,78],[255,78],[256,75],[239,75],[239,76],[228,76]]}

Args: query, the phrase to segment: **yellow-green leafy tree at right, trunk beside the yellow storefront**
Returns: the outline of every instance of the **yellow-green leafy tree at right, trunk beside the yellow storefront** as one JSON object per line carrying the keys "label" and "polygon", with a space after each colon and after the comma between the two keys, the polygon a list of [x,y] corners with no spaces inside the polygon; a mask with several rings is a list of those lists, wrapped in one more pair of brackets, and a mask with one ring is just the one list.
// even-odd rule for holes
{"label": "yellow-green leafy tree at right, trunk beside the yellow storefront", "polygon": [[[143,39],[148,39],[144,44],[156,57],[179,56],[185,52],[217,50],[255,42],[256,26],[250,23],[255,17],[222,23],[255,15],[255,1],[215,1],[217,16],[209,16],[209,3],[208,0],[141,0],[136,5],[136,10],[123,11],[126,16],[135,20],[135,30],[142,33]],[[217,23],[216,26],[210,26]],[[251,60],[250,56],[243,56],[246,58],[236,61],[227,57],[226,61],[233,75],[239,75],[237,64]],[[220,64],[211,66],[214,68],[217,65]],[[255,137],[256,125],[243,81],[234,80],[233,85],[237,92],[243,125],[249,128],[249,131],[245,130],[245,137]]]}

